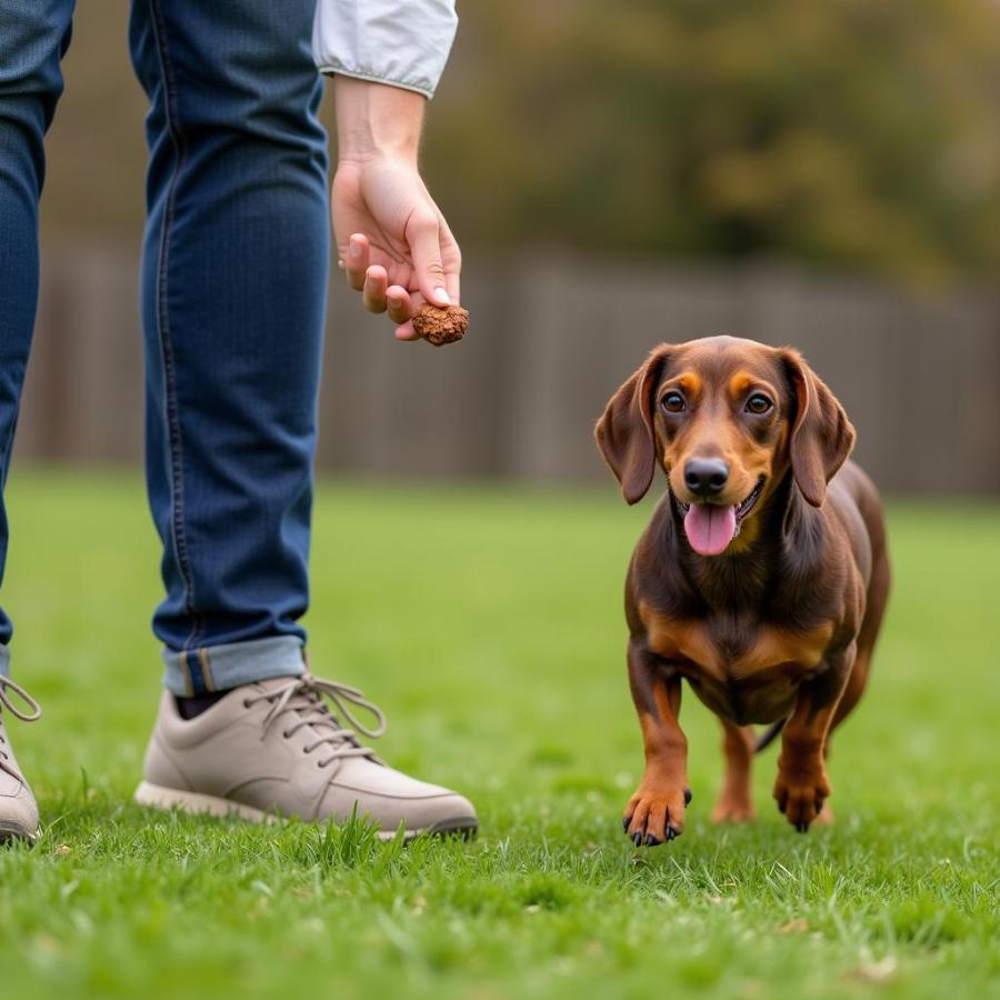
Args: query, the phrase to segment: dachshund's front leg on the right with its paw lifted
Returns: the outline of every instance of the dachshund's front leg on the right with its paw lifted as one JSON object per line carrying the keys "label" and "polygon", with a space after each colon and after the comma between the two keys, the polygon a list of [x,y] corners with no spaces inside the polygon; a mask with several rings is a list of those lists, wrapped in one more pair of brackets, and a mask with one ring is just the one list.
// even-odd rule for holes
{"label": "dachshund's front leg on the right with its paw lifted", "polygon": [[854,644],[828,659],[813,680],[802,684],[794,711],[781,733],[774,799],[788,821],[804,833],[831,792],[826,743],[854,661]]}

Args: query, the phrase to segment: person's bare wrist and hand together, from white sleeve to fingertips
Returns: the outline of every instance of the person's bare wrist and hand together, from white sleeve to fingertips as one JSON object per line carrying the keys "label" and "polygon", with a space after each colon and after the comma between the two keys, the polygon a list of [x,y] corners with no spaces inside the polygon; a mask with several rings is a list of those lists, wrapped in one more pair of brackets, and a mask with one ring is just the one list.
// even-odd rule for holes
{"label": "person's bare wrist and hand together, from white sleeve to fingertips", "polygon": [[419,340],[423,302],[459,302],[458,243],[417,168],[427,101],[418,93],[334,78],[339,163],[331,193],[340,268],[399,340]]}

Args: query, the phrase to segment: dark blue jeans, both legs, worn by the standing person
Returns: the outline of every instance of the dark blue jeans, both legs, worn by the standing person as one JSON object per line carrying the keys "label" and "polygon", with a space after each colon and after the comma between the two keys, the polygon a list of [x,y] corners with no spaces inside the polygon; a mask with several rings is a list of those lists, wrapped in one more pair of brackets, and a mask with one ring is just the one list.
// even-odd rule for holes
{"label": "dark blue jeans, both legs, worn by the standing person", "polygon": [[[314,7],[131,7],[132,62],[150,101],[146,466],[166,588],[153,631],[177,694],[303,670],[298,622],[309,597],[329,266]],[[42,138],[62,89],[72,8],[73,0],[0,6],[4,481],[38,292]],[[7,540],[0,508],[0,572]],[[0,670],[11,630],[0,612]]]}

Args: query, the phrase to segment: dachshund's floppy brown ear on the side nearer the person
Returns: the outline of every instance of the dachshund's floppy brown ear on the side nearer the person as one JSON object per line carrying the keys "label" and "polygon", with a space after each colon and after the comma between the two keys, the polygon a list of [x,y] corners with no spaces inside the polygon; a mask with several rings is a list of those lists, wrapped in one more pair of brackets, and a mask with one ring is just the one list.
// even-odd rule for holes
{"label": "dachshund's floppy brown ear on the side nearer the person", "polygon": [[638,503],[646,496],[657,468],[652,394],[669,353],[670,348],[662,344],[649,356],[611,397],[594,431],[598,448],[629,503]]}

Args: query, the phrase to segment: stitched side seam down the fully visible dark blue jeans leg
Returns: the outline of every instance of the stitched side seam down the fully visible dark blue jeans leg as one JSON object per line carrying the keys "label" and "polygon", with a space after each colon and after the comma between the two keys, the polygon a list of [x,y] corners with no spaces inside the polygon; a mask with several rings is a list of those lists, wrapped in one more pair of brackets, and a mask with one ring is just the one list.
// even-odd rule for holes
{"label": "stitched side seam down the fully visible dark blue jeans leg", "polygon": [[157,339],[160,342],[160,360],[163,366],[163,399],[166,403],[167,437],[170,450],[170,506],[172,548],[178,569],[184,584],[184,610],[192,617],[191,633],[184,640],[183,650],[191,649],[198,642],[204,623],[197,610],[194,596],[194,576],[191,571],[190,550],[184,529],[184,482],[183,482],[183,439],[180,427],[180,414],[177,398],[177,368],[173,356],[173,343],[170,337],[170,313],[168,300],[168,272],[170,264],[170,237],[173,228],[174,207],[177,201],[178,179],[188,159],[188,146],[180,128],[177,112],[177,84],[167,50],[167,24],[159,0],[149,0],[153,40],[160,70],[163,74],[163,114],[167,130],[173,144],[174,166],[167,189],[167,201],[163,212],[163,232],[160,237],[160,252],[157,261]]}

